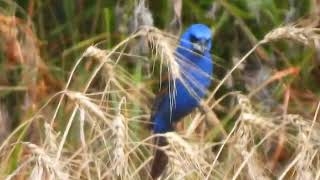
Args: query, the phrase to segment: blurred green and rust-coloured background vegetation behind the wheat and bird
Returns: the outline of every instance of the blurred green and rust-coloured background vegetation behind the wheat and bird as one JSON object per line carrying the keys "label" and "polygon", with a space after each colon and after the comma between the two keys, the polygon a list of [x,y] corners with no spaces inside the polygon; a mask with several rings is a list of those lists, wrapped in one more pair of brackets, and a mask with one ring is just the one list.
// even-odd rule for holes
{"label": "blurred green and rust-coloured background vegetation behind the wheat and bird", "polygon": [[[187,26],[204,23],[214,32],[214,89],[268,32],[286,25],[316,28],[319,17],[319,0],[0,0],[0,144],[63,90],[77,59],[90,45],[100,43],[102,49],[109,50],[144,25],[178,37]],[[317,43],[320,42],[314,42]],[[138,59],[154,58],[139,40],[129,43],[123,51]],[[151,104],[152,93],[159,87],[157,73],[152,75],[156,77],[150,75],[153,62],[137,61],[132,56],[123,59],[121,67],[130,74],[135,87],[147,89],[141,99],[146,98]],[[235,70],[214,98],[241,91],[267,114],[298,113],[312,119],[320,93],[319,65],[317,46],[290,40],[268,43],[259,46]],[[83,89],[93,67],[92,61],[78,66],[69,89]],[[103,89],[101,79],[94,81],[91,92]],[[44,114],[52,115],[57,104],[54,100]],[[226,129],[232,128],[230,119],[234,117],[229,110],[235,104],[234,98],[227,98],[215,106]],[[134,108],[132,116],[148,113]],[[63,109],[71,111],[67,103]],[[65,126],[66,115],[58,116],[61,120],[53,127],[59,129]],[[22,139],[36,143],[43,125],[41,121],[34,122]],[[77,133],[71,138],[80,141]],[[13,153],[15,160],[10,161],[6,172],[17,167],[23,156],[21,151]]]}

